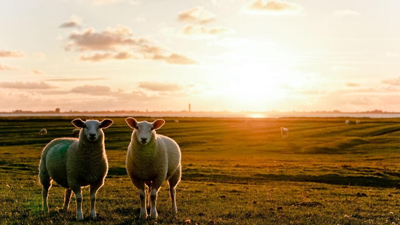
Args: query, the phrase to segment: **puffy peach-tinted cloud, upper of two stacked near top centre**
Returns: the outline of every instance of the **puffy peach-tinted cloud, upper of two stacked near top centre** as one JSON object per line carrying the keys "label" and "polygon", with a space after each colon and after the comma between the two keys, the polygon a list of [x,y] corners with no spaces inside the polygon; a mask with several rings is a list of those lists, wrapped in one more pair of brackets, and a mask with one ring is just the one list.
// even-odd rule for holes
{"label": "puffy peach-tinted cloud, upper of two stacked near top centre", "polygon": [[178,21],[180,22],[208,24],[210,22],[214,22],[215,20],[215,15],[202,6],[196,6],[194,8],[184,10],[178,14]]}

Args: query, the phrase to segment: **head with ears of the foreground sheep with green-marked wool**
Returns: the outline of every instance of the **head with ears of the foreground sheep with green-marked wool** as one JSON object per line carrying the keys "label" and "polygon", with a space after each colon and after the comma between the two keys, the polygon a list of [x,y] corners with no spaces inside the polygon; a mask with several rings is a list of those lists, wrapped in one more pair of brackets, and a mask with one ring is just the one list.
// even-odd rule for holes
{"label": "head with ears of the foreground sheep with green-marked wool", "polygon": [[85,135],[90,142],[95,142],[99,137],[102,137],[103,131],[101,129],[110,127],[112,123],[114,122],[110,119],[104,119],[101,122],[96,120],[87,120],[84,122],[81,119],[75,119],[72,121],[72,124],[75,125],[75,127],[82,128],[80,135]]}

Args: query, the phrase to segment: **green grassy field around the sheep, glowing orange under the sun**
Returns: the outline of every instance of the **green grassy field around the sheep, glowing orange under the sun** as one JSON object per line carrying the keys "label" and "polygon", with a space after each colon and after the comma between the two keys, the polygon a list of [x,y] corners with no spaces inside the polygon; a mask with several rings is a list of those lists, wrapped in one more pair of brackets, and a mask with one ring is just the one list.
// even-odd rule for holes
{"label": "green grassy field around the sheep, glowing orange under the sun", "polygon": [[[0,223],[82,224],[68,212],[64,189],[53,183],[50,215],[41,211],[38,164],[43,147],[68,137],[68,117],[0,118]],[[86,119],[86,118],[82,118]],[[98,118],[103,119],[103,118]],[[139,219],[138,190],[126,175],[132,130],[124,118],[105,129],[110,169],[97,195],[98,218],[85,224],[399,224],[400,119],[164,118],[158,133],[182,150],[176,217],[167,183],[158,197],[158,219]],[[138,118],[145,120],[148,118]],[[288,127],[282,139],[280,127]],[[41,128],[49,134],[38,135]]]}

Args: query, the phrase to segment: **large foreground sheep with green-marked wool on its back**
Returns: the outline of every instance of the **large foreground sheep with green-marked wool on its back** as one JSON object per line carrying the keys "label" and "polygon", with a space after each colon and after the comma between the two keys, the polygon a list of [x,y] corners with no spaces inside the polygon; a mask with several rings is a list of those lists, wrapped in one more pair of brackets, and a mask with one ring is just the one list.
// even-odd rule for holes
{"label": "large foreground sheep with green-marked wool on its back", "polygon": [[43,186],[43,211],[49,212],[47,197],[52,181],[66,189],[63,210],[68,210],[72,191],[76,196],[76,219],[83,219],[81,187],[90,185],[90,217],[96,218],[96,193],[104,184],[108,161],[102,129],[114,123],[110,119],[72,124],[80,128],[79,138],[54,139],[44,147],[39,163],[39,181]]}

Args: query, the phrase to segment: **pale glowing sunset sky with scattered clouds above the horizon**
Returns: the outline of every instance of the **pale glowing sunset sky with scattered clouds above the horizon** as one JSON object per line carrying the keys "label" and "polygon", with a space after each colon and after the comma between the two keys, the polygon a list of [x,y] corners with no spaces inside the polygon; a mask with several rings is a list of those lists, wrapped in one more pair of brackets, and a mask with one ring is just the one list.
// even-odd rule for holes
{"label": "pale glowing sunset sky with scattered clouds above the horizon", "polygon": [[398,0],[0,2],[0,111],[400,111]]}

